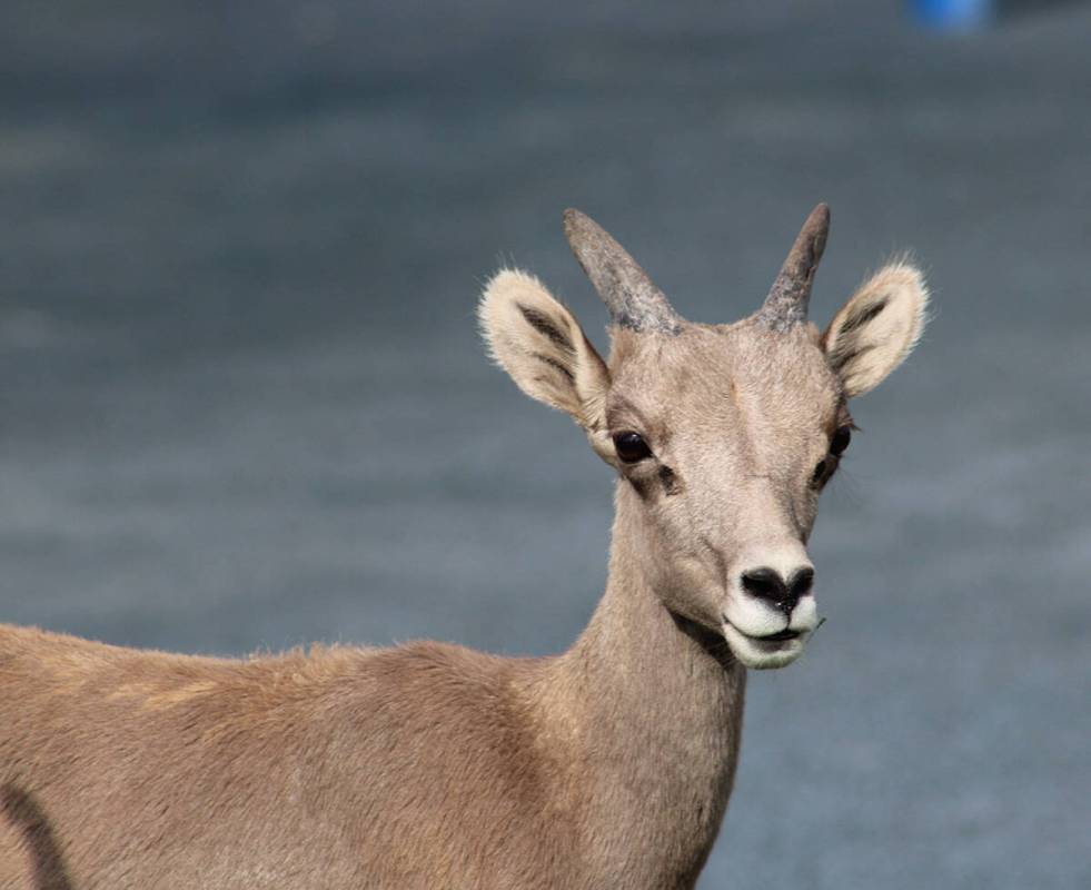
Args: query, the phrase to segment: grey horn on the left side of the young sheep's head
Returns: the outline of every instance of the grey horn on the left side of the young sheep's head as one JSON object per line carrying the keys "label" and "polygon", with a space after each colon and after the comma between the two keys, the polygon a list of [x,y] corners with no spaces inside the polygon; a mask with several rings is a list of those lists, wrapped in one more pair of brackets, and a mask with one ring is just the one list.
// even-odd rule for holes
{"label": "grey horn on the left side of the young sheep's head", "polygon": [[682,317],[617,241],[589,216],[565,210],[565,237],[615,325],[677,334]]}

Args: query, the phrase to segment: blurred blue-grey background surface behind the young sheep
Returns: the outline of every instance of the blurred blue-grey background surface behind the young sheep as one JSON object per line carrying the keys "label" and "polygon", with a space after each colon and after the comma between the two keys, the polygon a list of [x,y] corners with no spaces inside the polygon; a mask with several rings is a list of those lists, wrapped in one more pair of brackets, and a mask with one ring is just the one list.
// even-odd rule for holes
{"label": "blurred blue-grey background surface behind the young sheep", "polygon": [[911,248],[934,317],[853,408],[829,622],[752,679],[701,887],[1091,887],[1089,47],[1087,3],[6,0],[0,620],[563,649],[611,477],[489,367],[482,280],[604,347],[574,205],[731,320],[827,200],[813,315]]}

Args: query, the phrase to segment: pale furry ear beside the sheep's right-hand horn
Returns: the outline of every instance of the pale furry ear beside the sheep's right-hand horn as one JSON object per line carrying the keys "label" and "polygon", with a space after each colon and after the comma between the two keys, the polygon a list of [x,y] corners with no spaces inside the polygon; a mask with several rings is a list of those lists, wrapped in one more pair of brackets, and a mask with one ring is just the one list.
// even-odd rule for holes
{"label": "pale furry ear beside the sheep's right-hand horn", "polygon": [[845,396],[871,392],[905,360],[924,329],[928,301],[924,276],[896,263],[875,273],[841,307],[822,347]]}

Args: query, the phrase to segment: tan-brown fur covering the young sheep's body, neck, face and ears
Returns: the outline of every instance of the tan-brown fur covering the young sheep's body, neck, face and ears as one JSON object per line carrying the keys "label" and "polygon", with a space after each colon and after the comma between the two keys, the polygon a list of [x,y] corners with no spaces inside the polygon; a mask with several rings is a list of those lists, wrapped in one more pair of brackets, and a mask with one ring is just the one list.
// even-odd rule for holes
{"label": "tan-brown fur covering the young sheep's body, neck, face and ears", "polygon": [[[638,268],[596,270],[612,245],[582,259],[611,286]],[[802,642],[762,637],[816,617],[810,594],[787,617],[763,605],[742,573],[809,565],[843,382],[870,388],[919,333],[919,278],[877,281],[825,339],[693,325],[648,283],[607,364],[536,279],[503,273],[482,306],[494,356],[618,473],[609,581],[572,649],[234,661],[0,626],[0,888],[692,888],[734,779],[743,663],[789,663]],[[624,465],[618,431],[654,456]]]}

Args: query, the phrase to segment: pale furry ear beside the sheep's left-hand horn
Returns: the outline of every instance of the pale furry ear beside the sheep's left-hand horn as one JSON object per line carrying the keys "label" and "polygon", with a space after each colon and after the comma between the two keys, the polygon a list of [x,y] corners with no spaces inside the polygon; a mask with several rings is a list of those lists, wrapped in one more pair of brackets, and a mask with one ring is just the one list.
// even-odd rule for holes
{"label": "pale furry ear beside the sheep's left-hand horn", "polygon": [[485,286],[477,315],[489,354],[516,385],[571,414],[596,445],[609,372],[573,314],[533,275],[505,269]]}

